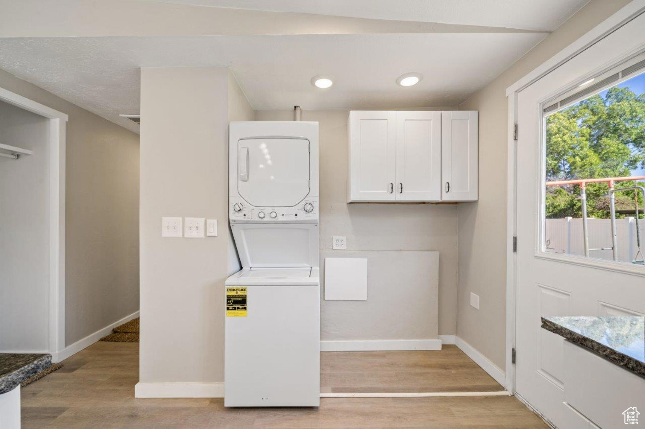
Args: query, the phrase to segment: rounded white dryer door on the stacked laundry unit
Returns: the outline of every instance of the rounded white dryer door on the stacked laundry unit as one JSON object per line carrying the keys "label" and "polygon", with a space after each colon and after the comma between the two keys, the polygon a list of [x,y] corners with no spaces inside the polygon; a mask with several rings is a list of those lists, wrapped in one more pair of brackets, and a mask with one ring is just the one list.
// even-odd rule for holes
{"label": "rounded white dryer door on the stacked laundry unit", "polygon": [[256,207],[291,207],[309,194],[309,140],[237,141],[237,190]]}

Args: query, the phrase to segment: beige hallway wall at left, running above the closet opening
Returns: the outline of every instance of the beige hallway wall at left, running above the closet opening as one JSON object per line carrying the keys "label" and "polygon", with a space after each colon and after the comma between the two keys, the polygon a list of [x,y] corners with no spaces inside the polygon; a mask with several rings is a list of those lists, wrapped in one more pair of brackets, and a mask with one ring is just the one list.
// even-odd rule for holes
{"label": "beige hallway wall at left, running above the closet opening", "polygon": [[0,87],[68,114],[65,343],[139,309],[139,136],[0,70]]}

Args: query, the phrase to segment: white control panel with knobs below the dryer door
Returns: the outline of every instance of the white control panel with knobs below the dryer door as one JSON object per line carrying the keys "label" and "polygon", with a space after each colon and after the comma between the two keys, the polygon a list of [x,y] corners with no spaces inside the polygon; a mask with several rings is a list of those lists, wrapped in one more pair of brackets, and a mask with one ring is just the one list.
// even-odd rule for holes
{"label": "white control panel with knobs below the dryer door", "polygon": [[318,220],[318,199],[305,198],[293,207],[255,207],[240,197],[230,197],[228,219],[231,222],[309,223]]}

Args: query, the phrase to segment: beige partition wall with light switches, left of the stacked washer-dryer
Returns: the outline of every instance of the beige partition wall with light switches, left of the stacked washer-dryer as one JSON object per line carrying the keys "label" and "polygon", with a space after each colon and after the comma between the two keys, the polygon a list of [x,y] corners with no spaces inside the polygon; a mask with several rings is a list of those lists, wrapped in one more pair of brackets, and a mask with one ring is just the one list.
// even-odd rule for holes
{"label": "beige partition wall with light switches, left of the stacked washer-dryer", "polygon": [[[141,69],[141,383],[223,381],[228,121],[252,115],[226,68]],[[162,216],[219,235],[162,238]]]}

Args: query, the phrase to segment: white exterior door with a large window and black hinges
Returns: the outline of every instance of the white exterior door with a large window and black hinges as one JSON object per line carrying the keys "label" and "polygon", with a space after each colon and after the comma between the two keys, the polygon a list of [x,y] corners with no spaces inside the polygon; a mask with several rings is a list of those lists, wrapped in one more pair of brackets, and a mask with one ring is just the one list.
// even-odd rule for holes
{"label": "white exterior door with a large window and black hinges", "polygon": [[642,46],[643,28],[640,15],[517,95],[515,390],[560,428],[573,427],[563,395],[563,339],[541,329],[541,316],[642,315],[645,267],[546,253],[542,104]]}

